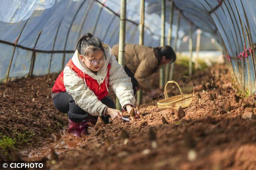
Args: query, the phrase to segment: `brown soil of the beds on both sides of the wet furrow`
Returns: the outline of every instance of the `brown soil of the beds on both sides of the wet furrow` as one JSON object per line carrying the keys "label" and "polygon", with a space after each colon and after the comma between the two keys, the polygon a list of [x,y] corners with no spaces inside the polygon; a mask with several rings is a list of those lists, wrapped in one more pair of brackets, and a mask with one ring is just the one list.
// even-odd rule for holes
{"label": "brown soil of the beds on both sides of the wet furrow", "polygon": [[[256,95],[236,98],[235,94],[238,95],[238,93],[231,86],[230,78],[229,71],[223,65],[196,72],[192,78],[195,96],[190,106],[184,109],[186,115],[182,119],[178,119],[171,109],[161,110],[157,108],[156,103],[162,98],[144,100],[144,104],[139,108],[144,120],[114,120],[112,124],[108,124],[106,127],[98,122],[97,130],[92,130],[90,135],[78,139],[78,147],[61,152],[56,162],[47,161],[48,168],[52,170],[256,169],[256,119],[242,119],[245,111],[256,114]],[[38,90],[44,88],[43,91],[47,91],[45,94],[42,93],[40,97],[35,98],[35,94],[33,94],[37,90],[31,94],[30,85],[26,88],[26,91],[30,91],[27,92],[30,94],[30,98],[28,94],[26,95],[29,100],[20,98],[17,101],[17,97],[12,97],[12,99],[11,95],[8,95],[8,100],[6,98],[0,99],[5,102],[4,105],[1,102],[1,108],[4,107],[5,109],[5,111],[1,109],[1,120],[5,120],[3,123],[8,122],[0,125],[1,131],[2,129],[5,130],[3,134],[12,134],[17,129],[14,128],[16,126],[20,126],[18,130],[21,131],[26,128],[34,129],[36,135],[35,139],[32,139],[32,145],[38,145],[36,141],[50,137],[52,132],[46,131],[48,127],[46,121],[50,121],[52,127],[55,127],[53,126],[54,122],[62,122],[61,125],[65,126],[67,122],[66,116],[58,113],[52,106],[51,100],[47,98],[52,82],[45,83],[40,78],[35,79],[12,83],[15,85],[0,86],[1,95],[3,95],[4,86],[12,91],[17,88],[16,93],[10,91],[13,95],[18,93],[20,87],[24,90],[24,83],[29,82],[27,80],[33,80],[38,84],[37,86],[39,84],[40,86],[42,84],[47,86],[38,88]],[[207,83],[214,87],[209,87]],[[205,92],[201,90],[202,84],[208,87]],[[222,92],[220,96],[217,94],[218,89]],[[200,100],[198,93],[202,97]],[[215,100],[209,99],[210,93],[216,94]],[[173,90],[172,94],[178,94],[178,90]],[[38,98],[35,100],[38,102],[34,104],[31,102],[32,98]],[[15,111],[16,108],[9,109],[14,108],[13,101],[15,101],[15,107],[20,105],[18,107],[19,115]],[[226,111],[225,107],[228,102],[231,103],[230,111]],[[6,104],[8,105],[5,106]],[[41,105],[42,108],[38,107]],[[35,108],[32,109],[33,107]],[[10,114],[7,113],[8,111]],[[167,124],[163,124],[162,117],[166,119]],[[15,121],[10,123],[11,120]],[[16,120],[20,122],[16,122]],[[34,121],[39,125],[34,125]],[[31,122],[28,123],[31,125],[25,124],[27,122]],[[54,131],[58,131],[61,127],[57,126]],[[127,145],[124,145],[124,139],[121,137],[122,129],[125,129],[129,134]],[[151,130],[156,135],[156,148],[152,148],[154,141],[150,141],[150,139],[154,139],[152,137],[154,135],[149,134]],[[104,133],[104,138],[100,135],[100,131]],[[70,141],[74,140],[72,137],[69,138]]]}

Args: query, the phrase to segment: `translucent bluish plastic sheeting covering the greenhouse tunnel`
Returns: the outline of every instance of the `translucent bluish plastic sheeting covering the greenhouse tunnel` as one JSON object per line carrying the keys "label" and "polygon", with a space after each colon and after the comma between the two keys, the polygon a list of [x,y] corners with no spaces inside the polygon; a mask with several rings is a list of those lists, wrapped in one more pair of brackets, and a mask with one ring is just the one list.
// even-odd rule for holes
{"label": "translucent bluish plastic sheeting covering the greenhouse tunnel", "polygon": [[[252,56],[248,53],[248,57],[239,57],[239,54],[245,51],[244,46],[253,49],[252,44],[256,43],[256,1],[173,1],[175,7],[171,45],[174,46],[178,31],[177,50],[187,50],[190,25],[193,31],[201,29],[204,36],[201,41],[204,44],[202,50],[210,47],[211,50],[218,49],[217,45],[209,41],[214,37],[224,55],[230,56],[227,61],[232,66],[230,68],[234,80],[243,90],[255,92],[255,51],[252,51]],[[33,54],[34,75],[48,74],[49,68],[50,73],[60,72],[62,63],[72,57],[76,41],[82,33],[93,33],[110,46],[119,40],[120,0],[0,0],[0,4],[0,82],[4,82],[7,76],[28,76],[33,65]],[[145,6],[145,45],[159,46],[161,1],[146,0]],[[127,0],[126,9],[126,43],[138,43],[140,1]],[[165,43],[168,44],[169,0],[166,0],[165,9]],[[179,13],[181,18],[178,29]],[[195,33],[193,41],[195,43]],[[14,47],[16,44],[17,47]]]}

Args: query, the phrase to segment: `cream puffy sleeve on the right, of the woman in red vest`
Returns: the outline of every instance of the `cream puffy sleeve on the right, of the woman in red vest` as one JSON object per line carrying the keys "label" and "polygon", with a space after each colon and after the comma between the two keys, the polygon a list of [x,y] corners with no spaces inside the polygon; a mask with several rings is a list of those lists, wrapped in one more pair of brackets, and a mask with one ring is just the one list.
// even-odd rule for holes
{"label": "cream puffy sleeve on the right, of the woman in red vest", "polygon": [[128,104],[133,106],[135,98],[131,78],[127,76],[122,65],[116,61],[114,55],[111,55],[110,64],[109,84],[118,97],[122,108],[124,109],[124,106]]}

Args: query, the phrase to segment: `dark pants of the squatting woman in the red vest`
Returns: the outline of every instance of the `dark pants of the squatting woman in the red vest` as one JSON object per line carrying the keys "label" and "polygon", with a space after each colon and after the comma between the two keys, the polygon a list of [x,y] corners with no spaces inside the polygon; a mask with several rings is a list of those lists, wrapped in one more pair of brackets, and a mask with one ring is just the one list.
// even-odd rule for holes
{"label": "dark pants of the squatting woman in the red vest", "polygon": [[[113,102],[113,100],[111,100],[107,96],[100,101],[110,108],[116,108],[116,105]],[[53,104],[56,107],[56,109],[58,109],[58,111],[62,113],[68,113],[68,118],[76,123],[81,122],[86,118],[93,117],[96,120],[98,119],[98,116],[92,116],[90,115],[90,113],[84,111],[83,109],[81,109],[81,107],[76,105],[74,99],[67,92],[58,93],[57,96],[55,96],[53,99]],[[110,116],[108,115],[107,117],[102,116],[101,118],[105,123],[108,123],[109,117]]]}

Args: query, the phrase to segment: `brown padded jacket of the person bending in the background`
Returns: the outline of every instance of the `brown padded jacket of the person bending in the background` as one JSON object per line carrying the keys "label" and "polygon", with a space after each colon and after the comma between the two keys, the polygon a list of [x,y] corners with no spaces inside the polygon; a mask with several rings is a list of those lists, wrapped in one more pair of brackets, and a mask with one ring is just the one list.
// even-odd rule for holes
{"label": "brown padded jacket of the person bending in the background", "polygon": [[[119,45],[114,45],[111,53],[118,59]],[[154,48],[136,45],[125,45],[125,65],[134,73],[134,78],[138,81],[141,89],[149,91],[151,83],[148,76],[153,74],[158,67],[158,59],[154,54]]]}

